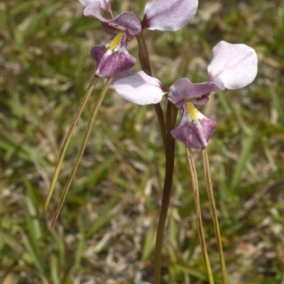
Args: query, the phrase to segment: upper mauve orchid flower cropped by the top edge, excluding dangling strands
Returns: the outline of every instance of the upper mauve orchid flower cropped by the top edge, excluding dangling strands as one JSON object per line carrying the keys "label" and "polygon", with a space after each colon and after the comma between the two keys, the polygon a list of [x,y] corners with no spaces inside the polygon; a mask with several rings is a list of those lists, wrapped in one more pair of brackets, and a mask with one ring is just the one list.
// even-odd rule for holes
{"label": "upper mauve orchid flower cropped by the top edge, excluding dangling strands", "polygon": [[111,0],[79,1],[86,7],[84,16],[99,19],[105,31],[113,34],[107,43],[91,50],[92,57],[97,61],[96,75],[105,78],[115,77],[136,64],[136,59],[126,49],[127,42],[134,35],[143,28],[177,31],[195,16],[198,5],[198,0],[152,0],[146,4],[141,21],[131,12],[120,13],[114,18]]}

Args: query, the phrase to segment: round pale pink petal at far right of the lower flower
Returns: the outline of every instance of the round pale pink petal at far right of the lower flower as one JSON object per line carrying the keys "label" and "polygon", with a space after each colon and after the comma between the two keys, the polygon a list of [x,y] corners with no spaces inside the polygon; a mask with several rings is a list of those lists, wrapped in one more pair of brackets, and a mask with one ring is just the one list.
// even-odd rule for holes
{"label": "round pale pink petal at far right of the lower flower", "polygon": [[253,82],[257,72],[257,55],[244,44],[220,41],[212,50],[209,77],[218,77],[227,89],[239,89]]}

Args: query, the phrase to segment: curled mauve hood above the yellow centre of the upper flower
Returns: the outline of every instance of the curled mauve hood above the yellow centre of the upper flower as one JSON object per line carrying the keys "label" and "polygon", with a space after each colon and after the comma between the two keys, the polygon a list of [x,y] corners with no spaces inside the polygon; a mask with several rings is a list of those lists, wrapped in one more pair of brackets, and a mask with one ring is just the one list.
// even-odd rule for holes
{"label": "curled mauve hood above the yellow centre of the upper flower", "polygon": [[101,3],[94,1],[94,3],[84,9],[84,16],[97,18],[99,21],[107,23],[109,26],[117,28],[120,31],[126,31],[130,35],[136,35],[141,31],[141,22],[133,13],[124,12],[113,20],[107,20],[102,16],[101,9]]}

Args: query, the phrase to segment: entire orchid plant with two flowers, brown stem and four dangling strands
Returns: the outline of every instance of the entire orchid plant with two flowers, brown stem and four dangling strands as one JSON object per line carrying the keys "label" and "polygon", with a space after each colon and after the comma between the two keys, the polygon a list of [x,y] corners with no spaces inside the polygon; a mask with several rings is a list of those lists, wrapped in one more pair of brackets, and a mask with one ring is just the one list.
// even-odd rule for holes
{"label": "entire orchid plant with two flowers, brown stem and four dangling strands", "polygon": [[[97,104],[92,111],[92,116],[87,126],[86,134],[83,138],[80,151],[72,168],[70,178],[62,193],[60,203],[53,217],[52,226],[58,217],[60,209],[65,201],[67,192],[74,178],[77,166],[80,163],[82,153],[89,138],[94,121],[97,119],[99,107],[102,105],[107,90],[114,89],[121,97],[134,104],[153,104],[160,133],[163,138],[165,148],[165,181],[163,187],[163,197],[158,222],[155,261],[154,261],[154,283],[160,284],[160,267],[163,246],[163,234],[165,221],[168,213],[170,201],[170,190],[173,183],[173,169],[175,161],[175,141],[185,144],[187,158],[189,162],[190,175],[192,177],[192,190],[195,197],[195,207],[197,214],[197,227],[200,237],[200,244],[204,256],[205,265],[208,272],[209,283],[214,283],[212,269],[207,256],[206,242],[202,229],[202,218],[200,213],[200,201],[198,194],[197,173],[195,163],[192,158],[192,148],[201,149],[202,160],[204,162],[204,175],[207,184],[210,207],[212,211],[214,230],[217,237],[217,245],[222,265],[223,283],[228,283],[222,241],[219,233],[216,207],[212,190],[212,181],[209,170],[209,159],[206,147],[217,127],[217,122],[205,117],[197,107],[209,101],[212,92],[223,91],[224,89],[239,89],[246,87],[253,82],[257,72],[256,52],[244,44],[231,44],[220,41],[212,50],[212,60],[208,65],[208,81],[203,83],[192,83],[187,78],[178,79],[169,88],[152,76],[151,64],[148,55],[148,48],[143,30],[178,31],[190,22],[197,11],[197,0],[152,0],[149,1],[143,13],[143,18],[134,13],[125,11],[114,18],[111,11],[111,0],[79,0],[85,6],[84,16],[96,18],[102,23],[104,30],[111,34],[111,38],[102,46],[94,47],[91,55],[97,62],[97,67],[87,92],[75,114],[70,129],[65,137],[62,151],[55,169],[55,175],[50,185],[47,201],[43,209],[43,216],[48,210],[51,195],[55,188],[62,160],[70,142],[72,133],[77,125],[77,121],[82,114],[82,110],[92,94],[99,77],[105,78],[106,82]],[[136,64],[136,58],[127,51],[127,43],[136,38],[139,50],[139,61],[142,70],[133,72],[131,68]],[[160,101],[165,97],[168,99],[167,109],[164,111],[160,106]],[[181,111],[181,119],[178,126],[176,120],[178,110]],[[166,117],[166,119],[164,119]]]}

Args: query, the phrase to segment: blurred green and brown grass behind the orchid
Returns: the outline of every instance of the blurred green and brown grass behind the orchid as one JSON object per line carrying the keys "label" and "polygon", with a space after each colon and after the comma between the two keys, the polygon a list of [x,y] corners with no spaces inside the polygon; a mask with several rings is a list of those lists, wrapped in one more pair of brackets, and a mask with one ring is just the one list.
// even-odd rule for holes
{"label": "blurred green and brown grass behind the orchid", "polygon": [[[112,8],[142,17],[145,4],[114,1]],[[109,38],[82,10],[76,0],[0,2],[3,284],[153,282],[165,159],[152,106],[138,107],[109,92],[51,230],[95,92],[68,148],[48,216],[40,219],[60,142],[92,79],[89,49]],[[208,151],[230,283],[283,284],[284,1],[200,1],[185,28],[146,31],[146,38],[153,74],[168,87],[180,77],[204,82],[219,40],[246,43],[258,53],[253,84],[212,94],[202,111],[218,122]],[[137,55],[135,40],[129,52]],[[221,283],[200,151],[195,160],[207,247]],[[207,283],[181,143],[168,216],[163,283]]]}

